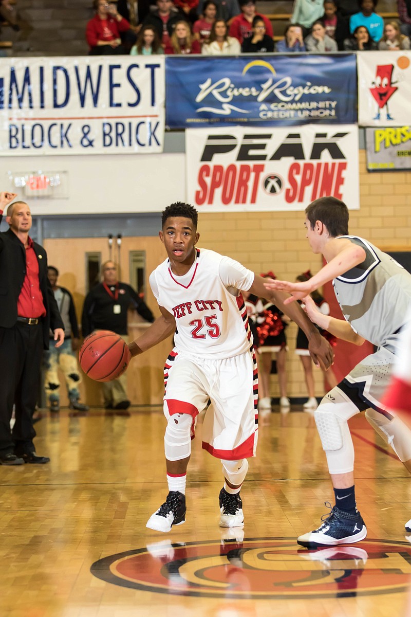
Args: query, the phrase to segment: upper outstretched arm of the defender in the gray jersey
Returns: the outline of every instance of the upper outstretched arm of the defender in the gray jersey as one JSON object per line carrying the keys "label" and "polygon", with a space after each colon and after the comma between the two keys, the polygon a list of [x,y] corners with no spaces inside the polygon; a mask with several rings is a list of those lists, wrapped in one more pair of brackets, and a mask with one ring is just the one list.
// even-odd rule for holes
{"label": "upper outstretched arm of the defender in the gray jersey", "polygon": [[264,285],[266,289],[277,289],[288,291],[291,294],[285,304],[290,304],[295,300],[302,300],[312,291],[322,287],[328,281],[332,281],[337,276],[351,270],[360,263],[364,262],[366,254],[364,249],[358,244],[345,238],[333,238],[327,242],[325,257],[330,255],[331,259],[308,281],[303,283],[291,283],[291,281],[279,281],[266,279]]}

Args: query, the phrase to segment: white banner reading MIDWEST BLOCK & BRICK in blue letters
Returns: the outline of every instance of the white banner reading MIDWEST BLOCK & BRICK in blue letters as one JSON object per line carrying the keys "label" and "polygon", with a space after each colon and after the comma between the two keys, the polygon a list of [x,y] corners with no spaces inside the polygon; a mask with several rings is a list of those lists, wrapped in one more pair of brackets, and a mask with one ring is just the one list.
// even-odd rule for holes
{"label": "white banner reading MIDWEST BLOCK & BRICK in blue letters", "polygon": [[2,58],[0,155],[162,152],[161,56]]}

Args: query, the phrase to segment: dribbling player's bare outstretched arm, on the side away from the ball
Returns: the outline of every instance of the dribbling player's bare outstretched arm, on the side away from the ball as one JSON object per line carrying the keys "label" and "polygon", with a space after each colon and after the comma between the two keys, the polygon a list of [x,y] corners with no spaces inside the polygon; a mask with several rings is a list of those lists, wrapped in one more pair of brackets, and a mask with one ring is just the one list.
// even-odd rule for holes
{"label": "dribbling player's bare outstretched arm, on the side away from the ball", "polygon": [[312,361],[316,366],[324,366],[329,368],[333,363],[333,350],[330,343],[325,340],[315,328],[314,323],[307,317],[299,304],[286,304],[288,294],[275,289],[267,289],[264,286],[265,278],[254,275],[254,281],[248,291],[258,297],[266,297],[271,300],[285,315],[288,315],[291,320],[304,331],[308,339],[308,349],[312,357]]}

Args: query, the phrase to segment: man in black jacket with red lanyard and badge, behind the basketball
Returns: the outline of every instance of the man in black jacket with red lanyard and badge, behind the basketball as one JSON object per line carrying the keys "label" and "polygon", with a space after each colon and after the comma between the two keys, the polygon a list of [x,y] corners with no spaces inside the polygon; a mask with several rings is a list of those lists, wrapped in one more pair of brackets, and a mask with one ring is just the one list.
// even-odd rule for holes
{"label": "man in black jacket with red lanyard and badge, behind the basketball", "polygon": [[[114,262],[103,263],[102,275],[102,283],[93,287],[84,300],[81,319],[83,336],[88,336],[94,330],[112,330],[128,342],[127,311],[129,307],[134,307],[137,313],[150,323],[154,321],[153,313],[131,286],[118,281]],[[126,375],[121,375],[102,385],[106,408],[127,409],[129,407]]]}

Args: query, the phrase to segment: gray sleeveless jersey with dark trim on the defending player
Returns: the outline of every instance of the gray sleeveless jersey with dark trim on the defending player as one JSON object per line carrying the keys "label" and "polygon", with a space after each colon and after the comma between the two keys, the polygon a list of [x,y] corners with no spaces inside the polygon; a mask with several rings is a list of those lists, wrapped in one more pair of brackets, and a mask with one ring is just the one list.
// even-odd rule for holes
{"label": "gray sleeveless jersey with dark trim on the defending player", "polygon": [[411,307],[411,275],[364,238],[341,238],[348,238],[366,253],[364,262],[333,280],[344,317],[360,336],[395,354],[398,333]]}

